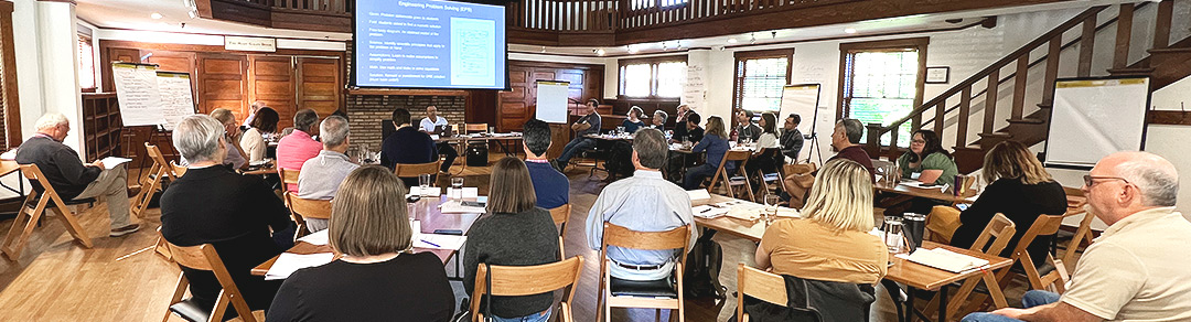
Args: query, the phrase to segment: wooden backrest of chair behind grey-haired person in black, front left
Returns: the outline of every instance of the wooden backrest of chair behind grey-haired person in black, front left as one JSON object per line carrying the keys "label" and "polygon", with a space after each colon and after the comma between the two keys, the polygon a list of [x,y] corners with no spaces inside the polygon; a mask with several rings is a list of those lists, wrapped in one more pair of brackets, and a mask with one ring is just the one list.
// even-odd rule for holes
{"label": "wooden backrest of chair behind grey-haired person in black, front left", "polygon": [[[166,241],[166,248],[169,249],[169,254],[177,262],[179,266],[199,270],[199,271],[211,271],[214,273],[216,279],[219,280],[219,285],[223,286],[222,297],[227,297],[231,302],[232,308],[239,314],[241,318],[247,322],[256,322],[252,316],[252,310],[249,309],[248,302],[244,302],[244,296],[239,292],[239,287],[236,287],[236,281],[231,279],[231,274],[227,273],[227,267],[224,266],[223,259],[216,253],[214,246],[210,243],[204,243],[199,246],[176,246],[169,241]],[[224,301],[218,301],[224,302]],[[225,303],[226,304],[226,303]],[[223,316],[223,308],[214,308],[212,316]]]}

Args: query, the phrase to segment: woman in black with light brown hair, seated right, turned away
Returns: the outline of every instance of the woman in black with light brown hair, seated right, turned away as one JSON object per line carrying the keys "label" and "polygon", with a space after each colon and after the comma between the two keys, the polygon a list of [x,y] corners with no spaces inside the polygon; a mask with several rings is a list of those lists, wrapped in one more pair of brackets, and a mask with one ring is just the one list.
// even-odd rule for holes
{"label": "woman in black with light brown hair, seated right, turned away", "polygon": [[[971,208],[960,213],[961,224],[952,236],[952,246],[972,247],[992,217],[1004,213],[1017,225],[1017,233],[1000,254],[1008,258],[1034,219],[1067,211],[1067,193],[1062,185],[1050,178],[1042,162],[1022,143],[1005,141],[992,147],[984,156],[984,178],[992,184],[985,187]],[[1050,235],[1037,236],[1027,248],[1035,265],[1046,261],[1050,239]]]}

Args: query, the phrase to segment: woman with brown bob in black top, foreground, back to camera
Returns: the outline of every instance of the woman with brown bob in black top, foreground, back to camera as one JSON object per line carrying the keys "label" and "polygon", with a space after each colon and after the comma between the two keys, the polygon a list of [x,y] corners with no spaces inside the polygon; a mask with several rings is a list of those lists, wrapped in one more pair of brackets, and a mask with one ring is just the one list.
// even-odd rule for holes
{"label": "woman with brown bob in black top, foreground, back to camera", "polygon": [[442,260],[410,252],[405,193],[391,169],[353,171],[331,204],[328,228],[331,248],[343,258],[291,274],[268,321],[450,320],[455,295]]}

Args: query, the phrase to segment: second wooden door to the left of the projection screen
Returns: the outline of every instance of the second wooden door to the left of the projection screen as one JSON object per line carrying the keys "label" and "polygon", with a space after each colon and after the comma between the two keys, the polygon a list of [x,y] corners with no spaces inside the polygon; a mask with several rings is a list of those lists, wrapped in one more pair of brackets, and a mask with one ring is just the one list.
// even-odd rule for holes
{"label": "second wooden door to the left of the projection screen", "polygon": [[[248,56],[248,101],[264,101],[274,111],[281,122],[278,130],[293,126],[294,112],[298,112],[298,104],[294,101],[294,62],[292,56]],[[245,111],[247,110],[245,105]]]}

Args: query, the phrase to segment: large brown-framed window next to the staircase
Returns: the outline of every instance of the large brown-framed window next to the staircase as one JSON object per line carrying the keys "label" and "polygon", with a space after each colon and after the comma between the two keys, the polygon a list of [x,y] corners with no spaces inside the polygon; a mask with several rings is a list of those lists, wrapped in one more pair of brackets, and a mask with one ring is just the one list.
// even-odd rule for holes
{"label": "large brown-framed window next to the staircase", "polygon": [[[840,111],[863,124],[890,125],[922,104],[927,39],[841,44]],[[919,119],[905,122],[897,131],[897,145],[910,145],[910,132]],[[868,132],[865,138],[868,141]],[[883,145],[890,135],[881,136]]]}

